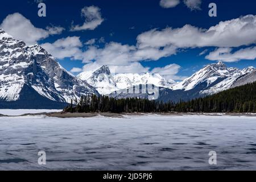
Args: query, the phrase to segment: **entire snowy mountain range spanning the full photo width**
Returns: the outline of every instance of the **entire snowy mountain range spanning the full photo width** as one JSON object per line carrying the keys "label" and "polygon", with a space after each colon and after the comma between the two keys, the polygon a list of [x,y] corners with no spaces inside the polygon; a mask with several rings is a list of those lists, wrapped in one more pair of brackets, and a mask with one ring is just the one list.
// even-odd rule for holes
{"label": "entire snowy mountain range spanning the full photo width", "polygon": [[[57,109],[88,94],[188,101],[254,81],[255,68],[227,68],[224,63],[206,65],[181,82],[158,73],[112,75],[107,65],[76,77],[39,45],[26,46],[0,29],[0,108]],[[134,87],[139,92],[127,93]],[[157,95],[148,92],[156,87]]]}

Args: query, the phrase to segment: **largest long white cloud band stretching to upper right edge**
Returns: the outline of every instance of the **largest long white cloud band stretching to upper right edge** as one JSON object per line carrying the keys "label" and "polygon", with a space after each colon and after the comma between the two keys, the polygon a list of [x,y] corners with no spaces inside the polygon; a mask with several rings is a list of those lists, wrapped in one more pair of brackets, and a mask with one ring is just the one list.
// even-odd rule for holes
{"label": "largest long white cloud band stretching to upper right edge", "polygon": [[256,43],[255,30],[256,16],[247,15],[220,22],[208,30],[189,24],[182,28],[153,29],[138,35],[137,45],[140,48],[170,45],[179,48],[239,47]]}

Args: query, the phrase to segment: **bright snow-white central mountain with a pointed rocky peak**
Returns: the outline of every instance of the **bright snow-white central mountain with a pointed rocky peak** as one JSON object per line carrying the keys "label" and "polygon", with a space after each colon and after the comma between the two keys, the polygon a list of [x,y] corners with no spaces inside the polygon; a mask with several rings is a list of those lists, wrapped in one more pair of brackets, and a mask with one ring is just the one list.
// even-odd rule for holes
{"label": "bright snow-white central mountain with a pointed rocky peak", "polygon": [[112,75],[107,65],[103,65],[94,71],[82,72],[77,77],[95,86],[100,94],[110,94],[115,90],[126,89],[135,85],[154,84],[162,87],[171,85],[158,73],[119,73]]}

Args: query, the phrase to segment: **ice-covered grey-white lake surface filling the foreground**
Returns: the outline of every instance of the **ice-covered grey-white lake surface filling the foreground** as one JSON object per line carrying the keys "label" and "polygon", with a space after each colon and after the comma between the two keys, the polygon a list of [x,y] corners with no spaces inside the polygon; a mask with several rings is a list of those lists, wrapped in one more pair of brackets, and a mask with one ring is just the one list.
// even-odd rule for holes
{"label": "ice-covered grey-white lake surface filling the foreground", "polygon": [[[46,152],[39,166],[38,152]],[[208,163],[217,152],[217,165]],[[256,118],[126,116],[0,117],[0,169],[256,169]]]}

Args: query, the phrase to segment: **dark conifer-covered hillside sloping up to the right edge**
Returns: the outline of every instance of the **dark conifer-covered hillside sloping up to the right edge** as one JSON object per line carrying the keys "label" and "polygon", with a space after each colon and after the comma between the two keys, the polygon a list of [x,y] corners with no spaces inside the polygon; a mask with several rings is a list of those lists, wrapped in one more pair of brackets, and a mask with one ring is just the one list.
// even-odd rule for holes
{"label": "dark conifer-covered hillside sloping up to the right edge", "polygon": [[175,105],[175,111],[256,113],[256,82]]}

